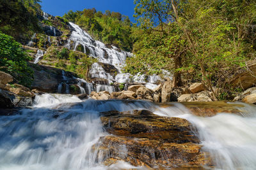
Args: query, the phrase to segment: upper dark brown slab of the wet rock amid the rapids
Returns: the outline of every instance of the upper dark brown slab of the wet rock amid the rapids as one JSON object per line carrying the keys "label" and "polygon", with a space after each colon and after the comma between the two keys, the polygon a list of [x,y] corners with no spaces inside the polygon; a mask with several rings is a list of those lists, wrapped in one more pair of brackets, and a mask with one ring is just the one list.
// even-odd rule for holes
{"label": "upper dark brown slab of the wet rock amid the rapids", "polygon": [[132,114],[118,111],[100,114],[106,130],[118,136],[158,139],[173,143],[199,142],[190,131],[192,125],[182,118],[159,117],[148,110],[134,110]]}

